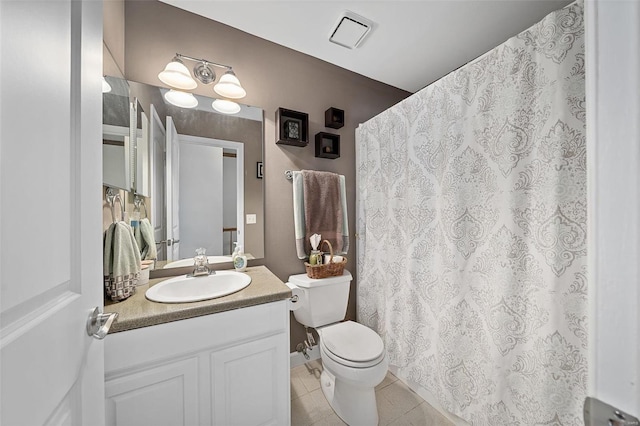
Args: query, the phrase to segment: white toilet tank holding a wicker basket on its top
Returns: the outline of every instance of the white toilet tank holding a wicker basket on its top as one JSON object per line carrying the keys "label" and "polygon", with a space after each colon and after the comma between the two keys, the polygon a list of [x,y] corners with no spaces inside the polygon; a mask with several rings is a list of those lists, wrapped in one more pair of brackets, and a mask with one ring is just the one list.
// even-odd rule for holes
{"label": "white toilet tank holding a wicker basket on its top", "polygon": [[291,275],[289,283],[304,293],[301,307],[293,311],[296,320],[307,327],[321,327],[342,321],[347,313],[351,273],[322,279],[309,278],[306,274]]}

